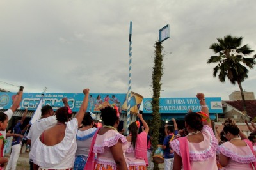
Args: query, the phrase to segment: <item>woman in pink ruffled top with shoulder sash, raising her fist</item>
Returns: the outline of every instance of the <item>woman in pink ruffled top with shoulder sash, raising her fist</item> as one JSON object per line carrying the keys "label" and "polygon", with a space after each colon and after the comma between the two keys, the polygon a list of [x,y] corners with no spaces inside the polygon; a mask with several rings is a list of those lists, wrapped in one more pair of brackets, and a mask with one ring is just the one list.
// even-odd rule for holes
{"label": "woman in pink ruffled top with shoulder sash, raising her fist", "polygon": [[218,169],[216,150],[218,141],[213,134],[209,110],[203,93],[196,95],[202,112],[190,112],[185,117],[186,137],[179,137],[170,143],[175,151],[173,169]]}

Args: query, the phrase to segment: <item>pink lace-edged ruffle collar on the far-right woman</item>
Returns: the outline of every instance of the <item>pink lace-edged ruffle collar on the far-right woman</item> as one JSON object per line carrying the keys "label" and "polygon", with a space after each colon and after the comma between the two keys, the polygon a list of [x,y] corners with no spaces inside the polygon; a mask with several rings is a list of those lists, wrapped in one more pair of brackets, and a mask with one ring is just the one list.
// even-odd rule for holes
{"label": "pink lace-edged ruffle collar on the far-right woman", "polygon": [[256,161],[256,158],[253,155],[249,146],[237,147],[230,142],[226,142],[221,144],[219,150],[220,153],[222,153],[226,157],[231,158],[235,162],[241,164],[248,164]]}

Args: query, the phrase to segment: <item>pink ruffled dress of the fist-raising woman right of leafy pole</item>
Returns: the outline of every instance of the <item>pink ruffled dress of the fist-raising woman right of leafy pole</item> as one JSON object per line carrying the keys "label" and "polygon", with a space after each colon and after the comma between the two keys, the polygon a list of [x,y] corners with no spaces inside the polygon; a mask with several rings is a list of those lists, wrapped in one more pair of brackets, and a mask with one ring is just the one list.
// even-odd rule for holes
{"label": "pink ruffled dress of the fist-raising woman right of leafy pole", "polygon": [[[208,125],[204,125],[202,129],[204,141],[200,143],[190,143],[188,141],[189,148],[189,160],[191,169],[218,169],[216,164],[216,150],[218,147],[218,140],[216,139],[212,128]],[[173,150],[180,154],[180,143],[178,140],[173,140],[170,143]]]}

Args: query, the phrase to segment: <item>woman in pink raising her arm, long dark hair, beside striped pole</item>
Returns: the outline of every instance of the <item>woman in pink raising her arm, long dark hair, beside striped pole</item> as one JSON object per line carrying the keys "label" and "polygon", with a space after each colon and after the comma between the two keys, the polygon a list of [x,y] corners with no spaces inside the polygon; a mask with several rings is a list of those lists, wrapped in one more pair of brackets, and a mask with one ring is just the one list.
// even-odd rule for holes
{"label": "woman in pink raising her arm, long dark hair, beside striped pole", "polygon": [[[145,120],[142,118],[142,114],[137,114],[138,118],[141,120],[144,131],[138,134],[138,128],[140,127],[140,122],[135,121],[129,125],[129,135],[127,139],[127,151],[125,152],[126,162],[129,166],[129,170],[146,170],[147,160],[147,135],[149,127]],[[138,148],[141,146],[141,148]],[[138,152],[144,153],[143,155],[138,156]],[[137,153],[137,154],[136,154]]]}

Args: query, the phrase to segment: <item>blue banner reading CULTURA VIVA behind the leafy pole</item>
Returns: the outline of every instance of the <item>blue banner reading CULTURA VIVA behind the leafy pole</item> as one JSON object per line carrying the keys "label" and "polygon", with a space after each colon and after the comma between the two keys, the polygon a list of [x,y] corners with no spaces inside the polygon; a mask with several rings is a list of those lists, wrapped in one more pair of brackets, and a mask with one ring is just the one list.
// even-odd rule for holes
{"label": "blue banner reading CULTURA VIVA behind the leafy pole", "polygon": [[[143,113],[152,113],[152,98],[143,99]],[[220,97],[205,98],[210,113],[223,113]],[[159,113],[187,113],[191,109],[194,112],[201,110],[198,98],[160,98]]]}

